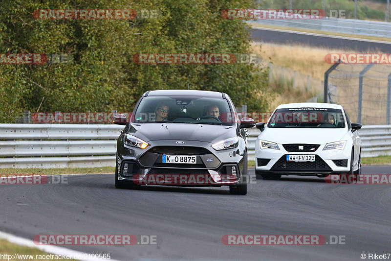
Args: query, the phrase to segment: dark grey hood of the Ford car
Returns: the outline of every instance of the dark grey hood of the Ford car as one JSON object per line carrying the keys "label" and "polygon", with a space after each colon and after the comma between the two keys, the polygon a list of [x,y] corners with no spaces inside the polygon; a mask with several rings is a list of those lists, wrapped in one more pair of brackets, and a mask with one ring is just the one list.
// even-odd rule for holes
{"label": "dark grey hood of the Ford car", "polygon": [[127,133],[146,142],[175,140],[215,143],[237,136],[236,126],[193,123],[132,123]]}

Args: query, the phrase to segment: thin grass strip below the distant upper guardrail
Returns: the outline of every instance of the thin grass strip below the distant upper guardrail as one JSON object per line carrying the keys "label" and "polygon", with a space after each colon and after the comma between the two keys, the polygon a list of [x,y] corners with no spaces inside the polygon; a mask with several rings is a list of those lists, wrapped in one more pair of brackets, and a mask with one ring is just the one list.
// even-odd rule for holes
{"label": "thin grass strip below the distant upper guardrail", "polygon": [[324,34],[324,35],[333,35],[333,36],[359,38],[359,39],[366,39],[366,40],[391,42],[391,37],[377,37],[377,36],[369,36],[369,35],[328,32],[328,31],[297,28],[297,27],[276,26],[276,25],[269,25],[269,24],[257,24],[257,23],[251,23],[251,22],[248,22],[248,24],[250,24],[251,26],[254,26],[254,27],[261,27],[261,28],[282,29],[282,30],[290,30],[290,31],[296,31],[296,32],[317,33],[317,34]]}

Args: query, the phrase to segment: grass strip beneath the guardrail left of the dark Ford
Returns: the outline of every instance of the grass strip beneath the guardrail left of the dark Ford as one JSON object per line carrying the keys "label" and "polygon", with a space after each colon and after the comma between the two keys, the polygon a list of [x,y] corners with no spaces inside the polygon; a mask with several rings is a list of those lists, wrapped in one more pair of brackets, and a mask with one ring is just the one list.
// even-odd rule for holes
{"label": "grass strip beneath the guardrail left of the dark Ford", "polygon": [[0,174],[97,174],[114,173],[115,167],[66,167],[66,168],[0,168]]}

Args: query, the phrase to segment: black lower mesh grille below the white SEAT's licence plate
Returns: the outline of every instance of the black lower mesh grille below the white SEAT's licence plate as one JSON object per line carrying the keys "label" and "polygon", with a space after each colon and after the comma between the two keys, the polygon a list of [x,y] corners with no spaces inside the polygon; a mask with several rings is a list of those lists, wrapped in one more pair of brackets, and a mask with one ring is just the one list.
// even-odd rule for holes
{"label": "black lower mesh grille below the white SEAT's licence plate", "polygon": [[283,170],[283,171],[303,170],[309,172],[309,171],[328,171],[328,170],[331,171],[332,169],[318,155],[315,155],[315,161],[313,162],[286,161],[286,155],[284,155],[272,166],[270,170]]}

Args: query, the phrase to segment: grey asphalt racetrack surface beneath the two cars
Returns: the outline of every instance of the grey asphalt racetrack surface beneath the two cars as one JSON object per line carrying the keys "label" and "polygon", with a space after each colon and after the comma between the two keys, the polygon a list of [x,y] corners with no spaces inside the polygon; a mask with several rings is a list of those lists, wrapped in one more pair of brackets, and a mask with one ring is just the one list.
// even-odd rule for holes
{"label": "grey asphalt racetrack surface beneath the two cars", "polygon": [[[254,175],[254,168],[249,169]],[[363,166],[390,174],[391,166]],[[361,260],[390,253],[391,186],[330,185],[324,178],[256,180],[228,187],[114,188],[114,174],[68,184],[0,185],[0,231],[35,235],[156,235],[158,245],[66,246],[117,260]],[[223,235],[345,236],[344,245],[224,245]],[[63,246],[64,247],[64,246]]]}

